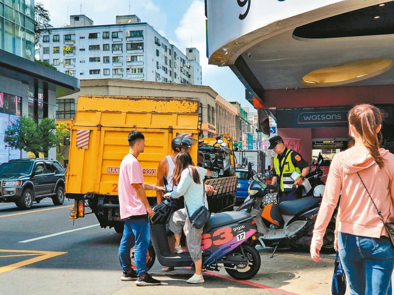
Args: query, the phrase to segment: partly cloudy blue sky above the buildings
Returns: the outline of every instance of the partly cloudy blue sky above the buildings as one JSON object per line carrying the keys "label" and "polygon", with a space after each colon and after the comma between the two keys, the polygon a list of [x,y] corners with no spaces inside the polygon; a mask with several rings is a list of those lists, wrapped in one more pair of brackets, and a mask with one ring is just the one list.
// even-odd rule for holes
{"label": "partly cloudy blue sky above the buildings", "polygon": [[[205,39],[204,1],[201,0],[36,0],[50,11],[52,26],[64,26],[69,15],[82,14],[91,18],[95,25],[114,24],[116,15],[127,15],[129,3],[131,14],[137,15],[141,22],[153,26],[169,42],[182,52],[185,48],[196,47],[200,51],[200,64],[203,67],[203,84],[212,87],[228,101],[239,101],[244,107],[252,105],[245,100],[245,88],[229,67],[208,65]],[[67,15],[68,7],[68,15]]]}

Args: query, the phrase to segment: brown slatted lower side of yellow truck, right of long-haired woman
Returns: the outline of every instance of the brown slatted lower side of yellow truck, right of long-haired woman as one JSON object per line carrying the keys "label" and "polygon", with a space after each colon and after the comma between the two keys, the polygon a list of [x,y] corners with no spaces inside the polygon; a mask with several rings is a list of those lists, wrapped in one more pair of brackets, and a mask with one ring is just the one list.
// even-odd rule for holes
{"label": "brown slatted lower side of yellow truck, right of long-haired woman", "polygon": [[212,213],[232,211],[235,204],[235,194],[237,192],[238,177],[222,177],[208,179],[205,184],[210,184],[217,191],[216,194],[206,194],[208,210]]}

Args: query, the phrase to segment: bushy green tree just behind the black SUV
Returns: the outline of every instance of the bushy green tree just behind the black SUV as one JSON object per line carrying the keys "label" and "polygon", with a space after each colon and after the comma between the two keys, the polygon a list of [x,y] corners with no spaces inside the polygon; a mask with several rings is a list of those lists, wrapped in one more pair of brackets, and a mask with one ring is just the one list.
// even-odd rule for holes
{"label": "bushy green tree just behind the black SUV", "polygon": [[32,118],[21,116],[7,126],[4,142],[10,147],[32,152],[38,158],[39,153],[48,153],[50,148],[59,144],[55,131],[54,119],[44,118],[37,124]]}

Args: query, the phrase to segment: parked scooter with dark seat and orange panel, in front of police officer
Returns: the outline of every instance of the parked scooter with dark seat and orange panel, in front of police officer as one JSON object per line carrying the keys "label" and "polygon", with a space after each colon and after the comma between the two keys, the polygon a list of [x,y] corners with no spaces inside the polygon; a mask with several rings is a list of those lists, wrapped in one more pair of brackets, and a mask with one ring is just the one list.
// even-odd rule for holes
{"label": "parked scooter with dark seat and orange panel, in front of police officer", "polygon": [[[275,247],[274,253],[278,247],[310,247],[314,222],[324,192],[324,185],[319,182],[322,176],[319,169],[322,160],[318,160],[316,169],[310,172],[304,181],[304,197],[283,201],[279,205],[275,205],[278,201],[278,193],[274,192],[275,186],[263,183],[259,177],[253,177],[248,189],[249,199],[237,209],[238,212],[256,216],[254,220],[258,232],[249,239],[251,245],[255,246],[260,242],[264,247]],[[279,224],[271,215],[271,209],[275,210],[274,205],[282,216],[283,224]],[[322,250],[333,251],[335,217],[336,211],[323,238]]]}

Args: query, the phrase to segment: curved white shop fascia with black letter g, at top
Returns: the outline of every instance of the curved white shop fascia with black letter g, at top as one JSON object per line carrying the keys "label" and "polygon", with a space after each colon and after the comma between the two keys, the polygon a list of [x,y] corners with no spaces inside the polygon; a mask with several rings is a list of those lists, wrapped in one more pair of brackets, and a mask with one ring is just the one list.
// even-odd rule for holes
{"label": "curved white shop fascia with black letter g, at top", "polygon": [[338,2],[343,0],[207,0],[208,56],[247,33]]}

